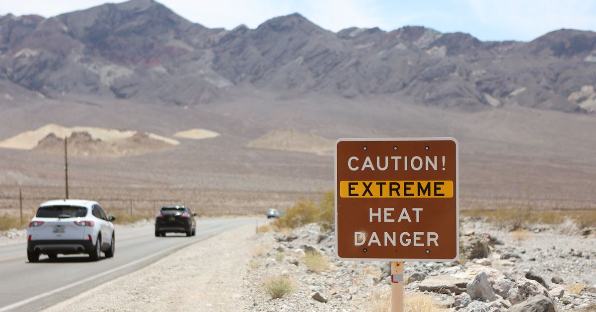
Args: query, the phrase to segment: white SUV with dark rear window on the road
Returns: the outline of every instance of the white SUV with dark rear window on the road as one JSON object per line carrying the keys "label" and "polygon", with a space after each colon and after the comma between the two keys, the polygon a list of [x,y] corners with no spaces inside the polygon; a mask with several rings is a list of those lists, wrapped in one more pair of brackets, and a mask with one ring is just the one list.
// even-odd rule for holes
{"label": "white SUV with dark rear window on the road", "polygon": [[51,200],[41,204],[27,231],[27,259],[39,254],[55,259],[58,254],[88,253],[91,260],[114,256],[114,216],[91,200]]}

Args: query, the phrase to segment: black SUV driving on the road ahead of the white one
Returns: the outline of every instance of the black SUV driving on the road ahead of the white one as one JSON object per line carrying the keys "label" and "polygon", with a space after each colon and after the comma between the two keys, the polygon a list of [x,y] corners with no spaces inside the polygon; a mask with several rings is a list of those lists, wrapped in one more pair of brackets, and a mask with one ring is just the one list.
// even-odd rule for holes
{"label": "black SUV driving on the road ahead of the white one", "polygon": [[194,236],[197,233],[196,213],[191,213],[187,206],[164,206],[155,219],[155,236],[166,236],[167,232],[186,233]]}

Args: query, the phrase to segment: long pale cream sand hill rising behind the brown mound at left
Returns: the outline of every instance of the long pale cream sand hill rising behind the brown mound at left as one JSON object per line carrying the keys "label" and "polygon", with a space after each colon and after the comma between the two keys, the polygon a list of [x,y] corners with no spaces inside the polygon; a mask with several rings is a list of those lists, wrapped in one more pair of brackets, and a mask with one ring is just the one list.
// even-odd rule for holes
{"label": "long pale cream sand hill rising behind the brown mound at left", "polygon": [[[110,142],[114,140],[122,140],[125,138],[132,138],[135,134],[139,133],[134,130],[116,130],[99,127],[63,127],[57,124],[47,124],[37,130],[25,131],[17,134],[14,137],[7,138],[4,141],[0,141],[0,147],[5,149],[20,149],[20,150],[31,150],[38,146],[39,141],[47,137],[49,134],[54,134],[58,138],[70,137],[73,133],[88,133],[91,135],[93,140],[101,140],[104,142]],[[154,133],[147,133],[148,137],[162,141],[170,145],[178,145],[179,141],[173,140],[172,138],[162,137]]]}

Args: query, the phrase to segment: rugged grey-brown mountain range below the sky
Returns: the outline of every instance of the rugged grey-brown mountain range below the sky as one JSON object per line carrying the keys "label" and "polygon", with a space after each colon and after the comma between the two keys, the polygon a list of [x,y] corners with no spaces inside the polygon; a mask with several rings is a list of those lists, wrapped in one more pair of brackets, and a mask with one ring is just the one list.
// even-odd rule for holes
{"label": "rugged grey-brown mountain range below the sky", "polygon": [[[299,14],[208,29],[152,0],[0,17],[0,102],[50,97],[193,105],[325,94],[466,111],[596,111],[596,33],[482,42],[425,27],[322,29]],[[24,101],[21,101],[24,102]]]}

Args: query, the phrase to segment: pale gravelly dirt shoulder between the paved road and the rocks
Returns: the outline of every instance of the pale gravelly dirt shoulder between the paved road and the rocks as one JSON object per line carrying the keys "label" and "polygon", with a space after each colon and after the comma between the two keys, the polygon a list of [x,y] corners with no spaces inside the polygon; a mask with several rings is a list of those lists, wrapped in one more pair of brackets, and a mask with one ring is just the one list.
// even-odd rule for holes
{"label": "pale gravelly dirt shoulder between the paved road and the rocks", "polygon": [[224,232],[44,311],[239,311],[253,238]]}

